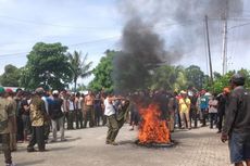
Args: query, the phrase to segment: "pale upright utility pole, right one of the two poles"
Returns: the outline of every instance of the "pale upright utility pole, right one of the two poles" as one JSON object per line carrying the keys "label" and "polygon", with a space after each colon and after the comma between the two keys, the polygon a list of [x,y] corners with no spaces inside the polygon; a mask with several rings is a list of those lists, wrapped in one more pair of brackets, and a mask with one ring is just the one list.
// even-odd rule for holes
{"label": "pale upright utility pole, right one of the two poles", "polygon": [[227,9],[228,1],[226,1],[226,7],[224,13],[222,15],[223,23],[223,43],[222,43],[222,74],[225,75],[227,73]]}

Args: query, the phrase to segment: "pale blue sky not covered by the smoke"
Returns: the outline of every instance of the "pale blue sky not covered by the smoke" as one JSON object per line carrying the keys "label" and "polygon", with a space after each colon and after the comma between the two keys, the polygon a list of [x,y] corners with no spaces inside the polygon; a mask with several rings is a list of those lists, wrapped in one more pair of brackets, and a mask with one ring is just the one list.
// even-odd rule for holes
{"label": "pale blue sky not covered by the smoke", "polygon": [[[250,2],[245,0],[243,4],[245,20],[228,23],[228,69],[250,69],[250,40],[242,38],[250,28]],[[0,74],[8,64],[24,66],[26,55],[40,41],[61,42],[68,47],[70,52],[77,50],[87,53],[95,67],[107,49],[122,49],[121,36],[125,21],[120,11],[122,7],[118,7],[117,0],[0,0]],[[175,41],[182,35],[179,28],[167,26],[166,20],[164,24],[160,36],[166,43]],[[222,26],[210,38],[213,69],[221,73]],[[195,64],[208,74],[205,52],[205,44],[200,43],[184,52],[176,65]],[[92,78],[79,81],[87,85]]]}

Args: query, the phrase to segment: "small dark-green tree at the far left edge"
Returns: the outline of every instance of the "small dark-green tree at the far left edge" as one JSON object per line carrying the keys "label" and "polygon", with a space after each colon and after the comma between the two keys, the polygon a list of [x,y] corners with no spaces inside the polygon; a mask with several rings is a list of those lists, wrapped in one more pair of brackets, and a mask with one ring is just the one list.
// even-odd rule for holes
{"label": "small dark-green tree at the far left edge", "polygon": [[4,73],[0,76],[0,85],[4,87],[18,87],[21,73],[16,66],[5,65]]}

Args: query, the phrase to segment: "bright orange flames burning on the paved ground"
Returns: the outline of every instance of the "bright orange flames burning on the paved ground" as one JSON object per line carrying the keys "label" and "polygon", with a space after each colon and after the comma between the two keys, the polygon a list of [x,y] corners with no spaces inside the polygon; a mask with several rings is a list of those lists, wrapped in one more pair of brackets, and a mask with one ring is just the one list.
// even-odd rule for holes
{"label": "bright orange flames burning on the paved ground", "polygon": [[139,129],[140,143],[170,143],[170,130],[165,120],[161,120],[161,111],[155,104],[150,104],[146,108],[140,108],[142,118]]}

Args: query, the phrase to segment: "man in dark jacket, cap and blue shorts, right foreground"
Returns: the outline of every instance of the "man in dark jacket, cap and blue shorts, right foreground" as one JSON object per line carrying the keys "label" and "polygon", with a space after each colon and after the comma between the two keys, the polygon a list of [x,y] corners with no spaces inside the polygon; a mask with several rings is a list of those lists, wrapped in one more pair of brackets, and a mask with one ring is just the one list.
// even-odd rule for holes
{"label": "man in dark jacket, cap and blue shorts, right foreground", "polygon": [[250,166],[250,92],[243,88],[245,77],[235,74],[230,79],[233,89],[226,107],[222,141],[229,140],[230,162],[235,166]]}

